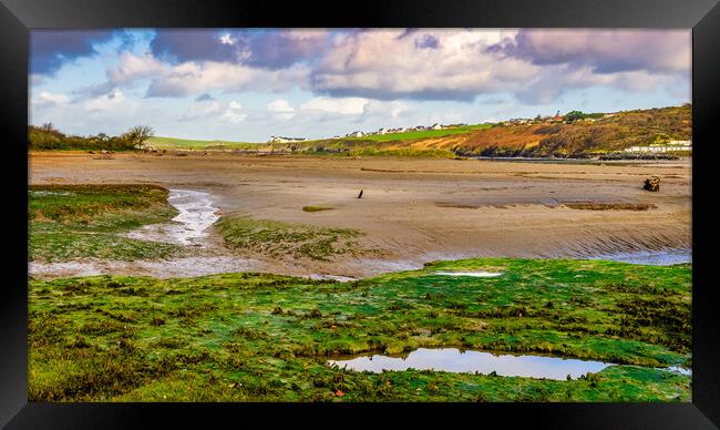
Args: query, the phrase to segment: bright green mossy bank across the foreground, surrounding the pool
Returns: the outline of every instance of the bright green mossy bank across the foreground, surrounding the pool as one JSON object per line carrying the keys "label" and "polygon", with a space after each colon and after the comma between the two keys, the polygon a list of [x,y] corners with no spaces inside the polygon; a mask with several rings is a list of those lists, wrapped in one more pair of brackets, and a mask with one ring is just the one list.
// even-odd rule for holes
{"label": "bright green mossy bank across the foreground, surrounding the pool", "polygon": [[[487,270],[495,277],[439,273]],[[353,283],[266,274],[31,280],[31,401],[688,401],[689,265],[483,258]],[[352,372],[459,347],[611,361],[543,380]]]}

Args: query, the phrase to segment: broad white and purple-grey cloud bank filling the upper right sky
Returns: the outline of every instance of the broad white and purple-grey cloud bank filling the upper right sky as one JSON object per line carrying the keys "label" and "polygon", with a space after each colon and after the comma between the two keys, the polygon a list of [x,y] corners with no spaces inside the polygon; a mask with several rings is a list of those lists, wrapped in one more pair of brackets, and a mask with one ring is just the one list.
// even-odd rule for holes
{"label": "broad white and purple-grey cloud bank filling the upper right sky", "polygon": [[510,92],[545,103],[595,85],[655,91],[689,70],[689,52],[683,31],[372,30],[339,34],[311,84],[336,96],[472,101]]}

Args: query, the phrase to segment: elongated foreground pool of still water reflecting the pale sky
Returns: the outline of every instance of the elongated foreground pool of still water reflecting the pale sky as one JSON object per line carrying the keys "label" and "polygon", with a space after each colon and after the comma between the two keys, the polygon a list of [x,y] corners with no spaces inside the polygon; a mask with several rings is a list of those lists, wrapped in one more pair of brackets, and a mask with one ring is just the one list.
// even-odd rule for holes
{"label": "elongated foreground pool of still water reflecting the pale sky", "polygon": [[420,348],[407,357],[364,356],[348,360],[330,360],[328,365],[337,365],[349,370],[381,372],[383,370],[442,370],[455,373],[479,372],[498,376],[529,377],[547,379],[573,379],[582,375],[598,372],[611,364],[586,361],[572,358],[544,356],[493,355],[483,351],[461,351],[456,348],[429,349]]}

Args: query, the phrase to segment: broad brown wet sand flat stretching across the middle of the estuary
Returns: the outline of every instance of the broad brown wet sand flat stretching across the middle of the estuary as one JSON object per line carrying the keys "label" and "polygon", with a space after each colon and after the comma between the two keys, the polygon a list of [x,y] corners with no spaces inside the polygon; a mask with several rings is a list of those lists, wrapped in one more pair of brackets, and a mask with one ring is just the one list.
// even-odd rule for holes
{"label": "broad brown wet sand flat stretching across the middle of the estuary", "polygon": [[[659,193],[642,190],[650,175],[660,176]],[[220,215],[353,228],[364,233],[362,247],[381,252],[332,262],[264,259],[265,272],[367,276],[433,259],[586,257],[691,246],[689,161],[564,164],[228,153],[95,160],[48,152],[30,154],[30,183],[152,183],[206,192]],[[357,198],[360,190],[363,196]],[[578,204],[588,208],[573,207]],[[617,209],[595,211],[594,204]],[[647,209],[624,209],[637,205]],[[210,242],[219,242],[213,227],[208,232]]]}

